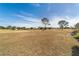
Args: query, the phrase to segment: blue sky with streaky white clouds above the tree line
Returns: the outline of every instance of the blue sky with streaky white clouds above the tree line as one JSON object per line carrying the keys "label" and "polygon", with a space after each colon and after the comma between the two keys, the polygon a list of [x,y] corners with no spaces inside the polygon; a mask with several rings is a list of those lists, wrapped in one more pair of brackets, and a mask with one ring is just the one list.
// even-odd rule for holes
{"label": "blue sky with streaky white clouds above the tree line", "polygon": [[48,18],[50,27],[66,20],[69,26],[79,22],[78,3],[0,3],[0,26],[40,27],[41,19]]}

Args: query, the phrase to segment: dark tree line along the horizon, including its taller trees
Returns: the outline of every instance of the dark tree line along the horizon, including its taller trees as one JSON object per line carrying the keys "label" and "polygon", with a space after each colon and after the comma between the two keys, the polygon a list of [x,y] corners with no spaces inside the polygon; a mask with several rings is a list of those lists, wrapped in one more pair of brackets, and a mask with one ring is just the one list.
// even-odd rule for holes
{"label": "dark tree line along the horizon, including its taller trees", "polygon": [[[48,18],[42,18],[41,19],[41,23],[44,25],[44,27],[38,27],[38,28],[34,28],[34,27],[30,27],[30,28],[26,28],[26,27],[16,27],[16,26],[0,26],[0,29],[11,29],[11,30],[26,30],[26,29],[52,29],[52,27],[47,27],[47,25],[51,25],[49,22]],[[69,22],[65,21],[65,20],[60,20],[58,22],[59,28],[60,29],[68,29],[69,27]],[[75,24],[74,27],[71,27],[74,29],[79,29],[79,23]]]}

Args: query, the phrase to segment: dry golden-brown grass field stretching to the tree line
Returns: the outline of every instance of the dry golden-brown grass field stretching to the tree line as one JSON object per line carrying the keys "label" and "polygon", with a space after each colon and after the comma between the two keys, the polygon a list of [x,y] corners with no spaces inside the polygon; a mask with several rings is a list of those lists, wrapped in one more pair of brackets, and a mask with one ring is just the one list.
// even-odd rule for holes
{"label": "dry golden-brown grass field stretching to the tree line", "polygon": [[70,35],[72,31],[0,30],[0,55],[72,55],[72,47],[79,46]]}

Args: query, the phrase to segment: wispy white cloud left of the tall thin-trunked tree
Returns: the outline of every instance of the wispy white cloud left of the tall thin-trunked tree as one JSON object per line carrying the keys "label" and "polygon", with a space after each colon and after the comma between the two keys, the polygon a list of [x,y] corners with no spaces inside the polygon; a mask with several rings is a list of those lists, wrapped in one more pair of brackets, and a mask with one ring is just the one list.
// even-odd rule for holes
{"label": "wispy white cloud left of the tall thin-trunked tree", "polygon": [[39,27],[41,26],[41,20],[39,18],[28,17],[21,14],[17,14],[16,17],[19,17],[22,22],[14,23],[16,25],[25,26],[26,27]]}

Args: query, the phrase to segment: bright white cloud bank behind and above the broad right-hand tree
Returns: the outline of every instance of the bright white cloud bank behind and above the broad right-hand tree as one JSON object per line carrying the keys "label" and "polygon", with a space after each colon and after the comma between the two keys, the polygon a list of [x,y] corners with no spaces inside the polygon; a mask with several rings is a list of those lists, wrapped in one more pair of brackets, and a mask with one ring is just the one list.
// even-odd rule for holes
{"label": "bright white cloud bank behind and above the broad right-hand tree", "polygon": [[68,21],[69,22],[69,26],[74,26],[76,23],[79,22],[79,17],[78,16],[76,16],[76,17],[71,17],[71,16],[64,16],[64,17],[54,16],[54,17],[52,17],[52,20],[51,20],[51,26],[52,27],[59,27],[58,26],[58,22],[60,20]]}

